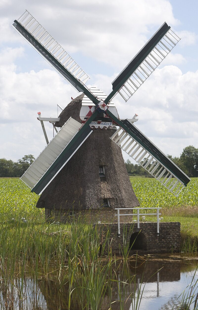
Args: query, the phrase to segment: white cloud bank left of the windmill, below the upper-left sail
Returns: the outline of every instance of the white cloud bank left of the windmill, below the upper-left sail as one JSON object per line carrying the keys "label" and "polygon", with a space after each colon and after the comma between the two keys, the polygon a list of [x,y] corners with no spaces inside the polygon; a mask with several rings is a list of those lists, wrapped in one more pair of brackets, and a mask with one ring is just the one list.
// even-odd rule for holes
{"label": "white cloud bank left of the windmill, below the upper-left sail", "polygon": [[[57,117],[57,103],[65,107],[71,96],[77,95],[53,70],[17,73],[17,66],[8,64],[17,56],[23,56],[21,48],[8,48],[0,54],[0,158],[14,160],[29,153],[37,156],[46,145],[37,112],[41,111],[43,117]],[[45,126],[52,139],[52,125]]]}

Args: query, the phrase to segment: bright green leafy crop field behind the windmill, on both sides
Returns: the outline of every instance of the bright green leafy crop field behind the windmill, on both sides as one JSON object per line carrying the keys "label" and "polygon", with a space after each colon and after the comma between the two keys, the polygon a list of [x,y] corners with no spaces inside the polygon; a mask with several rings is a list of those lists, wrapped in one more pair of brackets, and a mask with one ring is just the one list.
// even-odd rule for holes
{"label": "bright green leafy crop field behind the windmill, on both sides", "polygon": [[[179,208],[180,211],[198,207],[198,178],[192,178],[179,197],[154,178],[130,177],[130,180],[141,207]],[[42,210],[35,208],[38,197],[19,178],[0,178],[0,214],[9,218],[23,212],[41,214]]]}

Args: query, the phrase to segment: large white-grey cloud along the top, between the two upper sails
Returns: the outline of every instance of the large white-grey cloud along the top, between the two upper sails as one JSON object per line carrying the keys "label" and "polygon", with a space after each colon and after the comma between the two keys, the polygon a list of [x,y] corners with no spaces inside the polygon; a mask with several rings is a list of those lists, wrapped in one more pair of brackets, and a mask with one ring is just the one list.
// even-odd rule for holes
{"label": "large white-grey cloud along the top, between the two upper sails", "polygon": [[[10,25],[26,6],[26,1],[22,0],[17,7],[7,6],[7,10],[2,11],[2,41],[21,44],[21,38]],[[67,3],[44,0],[39,4],[30,2],[27,9],[66,51],[83,53],[118,70],[133,58],[165,20],[172,26],[179,24],[168,0],[75,0]]]}

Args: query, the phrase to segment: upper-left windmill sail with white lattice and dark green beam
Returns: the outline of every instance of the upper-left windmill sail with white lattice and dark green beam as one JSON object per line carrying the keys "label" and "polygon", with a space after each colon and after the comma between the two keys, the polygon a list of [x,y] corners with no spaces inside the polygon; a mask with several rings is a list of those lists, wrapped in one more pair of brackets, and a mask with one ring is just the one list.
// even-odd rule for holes
{"label": "upper-left windmill sail with white lattice and dark green beam", "polygon": [[85,86],[89,76],[27,10],[12,26],[77,91],[84,92],[98,103]]}

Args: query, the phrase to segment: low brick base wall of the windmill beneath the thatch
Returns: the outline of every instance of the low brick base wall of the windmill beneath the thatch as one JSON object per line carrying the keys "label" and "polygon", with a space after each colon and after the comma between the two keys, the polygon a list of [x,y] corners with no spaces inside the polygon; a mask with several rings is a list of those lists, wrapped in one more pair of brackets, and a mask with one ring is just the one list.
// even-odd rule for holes
{"label": "low brick base wall of the windmill beneath the thatch", "polygon": [[[71,210],[72,211],[72,210]],[[126,214],[128,210],[120,210],[120,214]],[[131,213],[132,210],[129,210]],[[75,216],[78,217],[79,214],[88,222],[96,223],[100,221],[101,223],[117,223],[117,210],[113,210],[109,207],[104,207],[100,210],[82,210],[82,211],[75,211]],[[66,223],[69,219],[69,211],[65,210],[52,210],[52,209],[45,209],[45,216],[46,219],[52,216],[55,221],[61,221],[62,223]],[[71,217],[71,216],[70,216]],[[120,217],[121,223],[131,223],[133,220],[133,216],[130,215],[123,215]]]}

